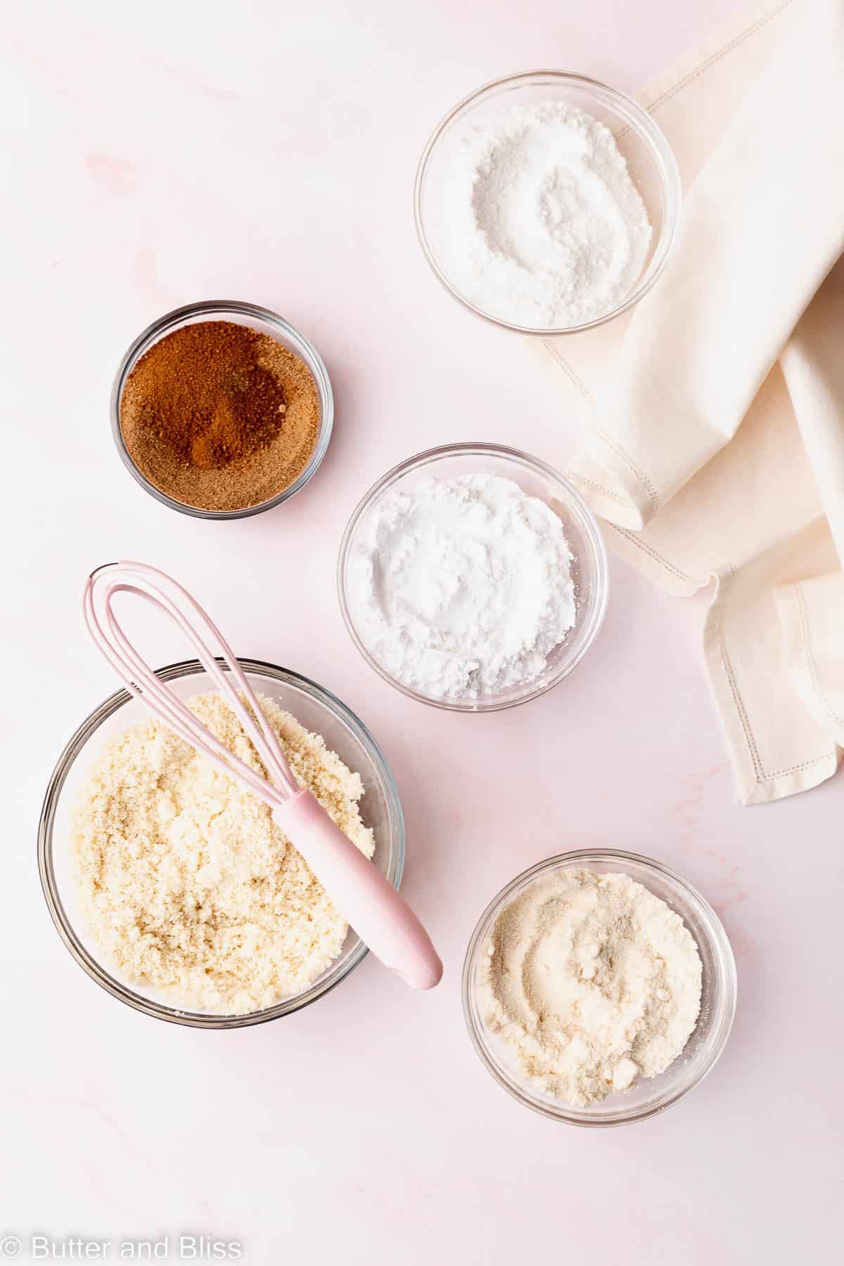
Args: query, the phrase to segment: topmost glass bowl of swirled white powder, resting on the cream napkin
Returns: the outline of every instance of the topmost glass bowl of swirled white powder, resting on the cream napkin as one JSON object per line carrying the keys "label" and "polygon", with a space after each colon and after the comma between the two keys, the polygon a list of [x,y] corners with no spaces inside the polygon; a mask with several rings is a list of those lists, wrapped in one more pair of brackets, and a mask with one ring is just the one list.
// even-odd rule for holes
{"label": "topmost glass bowl of swirled white powder, resting on the cream napkin", "polygon": [[680,203],[650,115],[562,71],[510,75],[461,101],[428,142],[414,195],[443,285],[524,334],[591,329],[636,304],[666,267]]}

